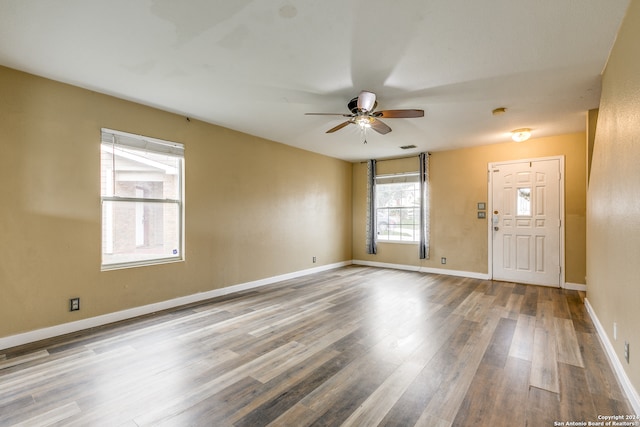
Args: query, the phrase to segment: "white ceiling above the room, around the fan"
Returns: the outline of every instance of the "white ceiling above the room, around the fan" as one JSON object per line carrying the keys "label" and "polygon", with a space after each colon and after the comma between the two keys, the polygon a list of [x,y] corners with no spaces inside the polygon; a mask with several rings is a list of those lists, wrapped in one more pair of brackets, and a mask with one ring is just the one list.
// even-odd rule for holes
{"label": "white ceiling above the room, around the fan", "polygon": [[[628,4],[0,0],[0,64],[349,161],[401,157],[584,130]],[[304,115],[348,113],[361,90],[425,117],[364,145],[354,125],[325,133],[343,117]]]}

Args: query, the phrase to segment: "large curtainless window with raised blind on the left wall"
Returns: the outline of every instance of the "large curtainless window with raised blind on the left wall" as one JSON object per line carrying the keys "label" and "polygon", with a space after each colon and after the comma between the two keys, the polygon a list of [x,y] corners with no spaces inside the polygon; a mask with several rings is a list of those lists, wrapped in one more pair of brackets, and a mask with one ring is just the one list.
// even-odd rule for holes
{"label": "large curtainless window with raised blind on the left wall", "polygon": [[184,147],[102,129],[102,269],[183,259]]}

